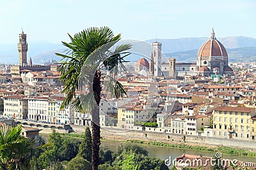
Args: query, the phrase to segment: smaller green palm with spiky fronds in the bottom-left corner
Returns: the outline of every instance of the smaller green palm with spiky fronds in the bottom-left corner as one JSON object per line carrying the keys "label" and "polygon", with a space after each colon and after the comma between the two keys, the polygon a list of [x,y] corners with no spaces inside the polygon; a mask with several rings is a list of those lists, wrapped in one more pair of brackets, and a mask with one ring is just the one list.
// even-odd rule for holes
{"label": "smaller green palm with spiky fronds in the bottom-left corner", "polygon": [[0,128],[0,169],[28,169],[29,161],[42,146],[21,136],[21,125]]}

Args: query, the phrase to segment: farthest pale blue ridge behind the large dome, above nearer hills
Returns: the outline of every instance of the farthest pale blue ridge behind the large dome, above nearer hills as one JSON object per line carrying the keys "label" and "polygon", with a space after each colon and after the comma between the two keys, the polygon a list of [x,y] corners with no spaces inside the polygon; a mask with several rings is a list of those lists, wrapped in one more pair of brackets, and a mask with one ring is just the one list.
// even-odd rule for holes
{"label": "farthest pale blue ridge behind the large dome, above nearer hills", "polygon": [[[158,42],[162,43],[163,53],[173,53],[182,52],[188,50],[199,49],[200,46],[208,38],[179,38],[179,39],[157,39]],[[256,39],[245,37],[245,36],[235,36],[226,38],[217,38],[225,48],[241,48],[245,46],[256,46]],[[155,42],[156,39],[148,39],[148,43]]]}

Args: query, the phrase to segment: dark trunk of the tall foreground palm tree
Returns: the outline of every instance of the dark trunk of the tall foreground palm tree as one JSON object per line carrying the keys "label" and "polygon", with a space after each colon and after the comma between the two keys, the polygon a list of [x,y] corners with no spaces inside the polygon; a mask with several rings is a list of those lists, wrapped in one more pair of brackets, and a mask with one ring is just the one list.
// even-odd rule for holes
{"label": "dark trunk of the tall foreground palm tree", "polygon": [[100,77],[101,73],[99,70],[94,75],[93,78],[93,94],[97,106],[93,107],[92,112],[92,169],[98,170],[99,166],[99,150],[100,150],[100,112],[99,112],[99,105],[100,105],[100,92],[101,92],[101,85],[100,85]]}

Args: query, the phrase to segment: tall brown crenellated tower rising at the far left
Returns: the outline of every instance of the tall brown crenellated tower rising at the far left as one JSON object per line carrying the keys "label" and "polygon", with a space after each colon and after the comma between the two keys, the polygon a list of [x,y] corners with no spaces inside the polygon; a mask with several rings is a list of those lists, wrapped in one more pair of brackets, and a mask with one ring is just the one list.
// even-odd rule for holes
{"label": "tall brown crenellated tower rising at the far left", "polygon": [[27,43],[27,35],[22,33],[19,34],[19,43],[18,43],[18,51],[19,51],[19,66],[26,66],[27,63],[27,52],[28,52],[28,43]]}

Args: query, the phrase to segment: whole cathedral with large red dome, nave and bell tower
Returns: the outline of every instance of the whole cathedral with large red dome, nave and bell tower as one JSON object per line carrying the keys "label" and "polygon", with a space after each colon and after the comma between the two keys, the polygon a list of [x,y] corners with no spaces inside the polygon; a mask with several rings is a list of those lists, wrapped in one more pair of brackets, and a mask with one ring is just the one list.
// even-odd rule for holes
{"label": "whole cathedral with large red dome, nave and bell tower", "polygon": [[195,63],[179,63],[169,59],[161,62],[161,43],[152,43],[149,71],[154,76],[232,76],[233,70],[228,66],[228,54],[225,47],[215,37],[212,28],[210,38],[200,47]]}

